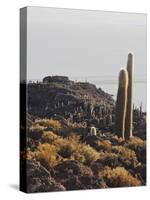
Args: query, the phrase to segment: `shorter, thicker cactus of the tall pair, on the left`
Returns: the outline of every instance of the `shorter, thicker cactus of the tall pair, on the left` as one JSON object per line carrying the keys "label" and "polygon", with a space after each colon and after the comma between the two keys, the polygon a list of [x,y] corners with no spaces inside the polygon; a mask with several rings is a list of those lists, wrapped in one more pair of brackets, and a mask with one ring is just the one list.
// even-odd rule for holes
{"label": "shorter, thicker cactus of the tall pair, on the left", "polygon": [[127,107],[128,72],[122,69],[119,73],[119,87],[116,101],[116,132],[124,139],[125,117]]}

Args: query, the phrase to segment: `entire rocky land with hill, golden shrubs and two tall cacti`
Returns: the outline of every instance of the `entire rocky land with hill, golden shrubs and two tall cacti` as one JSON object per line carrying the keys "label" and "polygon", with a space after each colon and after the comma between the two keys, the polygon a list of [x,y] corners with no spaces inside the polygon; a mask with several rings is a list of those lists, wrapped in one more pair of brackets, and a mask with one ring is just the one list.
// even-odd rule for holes
{"label": "entire rocky land with hill, golden shrubs and two tall cacti", "polygon": [[146,185],[146,113],[132,102],[133,55],[118,95],[67,77],[29,83],[21,124],[27,192]]}

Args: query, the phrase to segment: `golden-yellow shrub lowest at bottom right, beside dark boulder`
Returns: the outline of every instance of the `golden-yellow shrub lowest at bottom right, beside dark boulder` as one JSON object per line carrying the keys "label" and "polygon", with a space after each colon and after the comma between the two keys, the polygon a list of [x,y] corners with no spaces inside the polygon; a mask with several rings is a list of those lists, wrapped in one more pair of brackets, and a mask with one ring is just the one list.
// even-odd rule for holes
{"label": "golden-yellow shrub lowest at bottom right, beside dark boulder", "polygon": [[103,178],[109,187],[139,186],[140,180],[133,177],[124,167],[105,167]]}

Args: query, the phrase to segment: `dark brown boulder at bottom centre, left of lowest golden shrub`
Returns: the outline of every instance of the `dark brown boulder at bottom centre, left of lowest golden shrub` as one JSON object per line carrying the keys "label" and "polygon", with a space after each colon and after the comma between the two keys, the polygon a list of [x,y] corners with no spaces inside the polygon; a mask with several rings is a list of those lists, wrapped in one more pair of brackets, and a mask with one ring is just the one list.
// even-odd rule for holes
{"label": "dark brown boulder at bottom centre, left of lowest golden shrub", "polygon": [[55,167],[55,178],[66,190],[106,188],[102,177],[94,176],[92,170],[78,161],[65,161]]}

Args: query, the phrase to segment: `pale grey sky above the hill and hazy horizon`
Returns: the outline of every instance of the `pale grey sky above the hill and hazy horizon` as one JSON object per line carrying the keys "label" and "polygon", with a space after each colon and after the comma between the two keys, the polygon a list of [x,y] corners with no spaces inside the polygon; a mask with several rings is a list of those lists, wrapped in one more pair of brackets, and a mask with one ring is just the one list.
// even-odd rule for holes
{"label": "pale grey sky above the hill and hazy horizon", "polygon": [[28,7],[27,80],[48,75],[112,76],[135,55],[146,77],[146,15]]}

